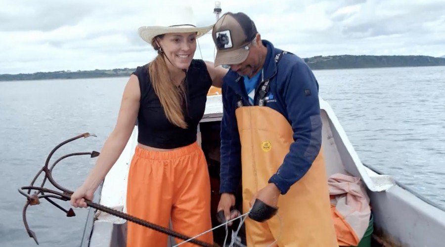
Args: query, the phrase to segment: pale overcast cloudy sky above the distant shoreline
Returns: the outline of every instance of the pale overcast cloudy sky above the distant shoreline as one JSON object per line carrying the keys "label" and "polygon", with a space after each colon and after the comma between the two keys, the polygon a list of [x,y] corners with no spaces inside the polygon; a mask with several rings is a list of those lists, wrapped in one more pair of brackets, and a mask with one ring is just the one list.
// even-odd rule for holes
{"label": "pale overcast cloudy sky above the distant shoreline", "polygon": [[[180,1],[192,4],[198,25],[215,22],[213,0]],[[155,53],[139,38],[137,28],[158,18],[160,4],[154,2],[0,0],[0,74],[145,64]],[[221,4],[223,12],[247,13],[263,39],[300,57],[445,55],[445,0],[221,0]],[[200,38],[199,44],[195,58],[213,61],[210,35]]]}

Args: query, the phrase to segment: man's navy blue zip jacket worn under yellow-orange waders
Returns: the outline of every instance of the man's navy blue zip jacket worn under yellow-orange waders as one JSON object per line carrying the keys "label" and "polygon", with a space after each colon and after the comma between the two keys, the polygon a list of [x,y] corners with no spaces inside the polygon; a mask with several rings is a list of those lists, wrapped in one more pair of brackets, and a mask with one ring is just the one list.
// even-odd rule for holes
{"label": "man's navy blue zip jacket worn under yellow-orange waders", "polygon": [[[282,50],[266,40],[263,44],[267,46],[264,79],[272,78],[265,107],[281,113],[294,131],[289,153],[268,181],[274,183],[281,194],[286,194],[309,170],[321,147],[318,82],[300,57],[286,53],[275,64],[274,57]],[[241,144],[235,117],[238,95],[243,105],[249,105],[243,78],[235,71],[229,70],[225,75],[222,94],[220,193],[235,193],[241,178]]]}

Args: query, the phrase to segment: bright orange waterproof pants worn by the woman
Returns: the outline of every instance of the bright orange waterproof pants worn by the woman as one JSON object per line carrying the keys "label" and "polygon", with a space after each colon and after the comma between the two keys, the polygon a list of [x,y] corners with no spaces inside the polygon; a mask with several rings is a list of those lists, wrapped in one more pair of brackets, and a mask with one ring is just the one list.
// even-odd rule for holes
{"label": "bright orange waterproof pants worn by the woman", "polygon": [[[174,231],[194,237],[212,228],[210,193],[207,162],[196,142],[172,151],[136,147],[128,176],[130,215],[166,228],[171,219]],[[167,247],[168,235],[127,223],[127,247]],[[212,232],[197,239],[213,244]]]}

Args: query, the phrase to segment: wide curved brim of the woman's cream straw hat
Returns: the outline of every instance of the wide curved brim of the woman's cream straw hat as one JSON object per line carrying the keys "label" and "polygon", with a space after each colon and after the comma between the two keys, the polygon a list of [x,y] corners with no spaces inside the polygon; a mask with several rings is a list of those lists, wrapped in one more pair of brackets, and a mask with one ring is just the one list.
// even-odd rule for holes
{"label": "wide curved brim of the woman's cream straw hat", "polygon": [[161,26],[144,26],[137,29],[137,33],[139,37],[142,38],[145,42],[151,44],[153,39],[158,35],[163,34],[171,34],[171,33],[197,33],[196,38],[199,38],[210,30],[212,30],[213,25],[206,27],[190,27],[190,26],[182,26],[182,27],[161,27]]}

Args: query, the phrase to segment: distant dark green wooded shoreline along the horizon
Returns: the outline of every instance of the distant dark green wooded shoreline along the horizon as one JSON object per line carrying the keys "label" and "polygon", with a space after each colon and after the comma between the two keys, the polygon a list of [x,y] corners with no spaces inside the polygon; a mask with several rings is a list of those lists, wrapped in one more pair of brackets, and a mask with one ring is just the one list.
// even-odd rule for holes
{"label": "distant dark green wooded shoreline along the horizon", "polygon": [[[336,55],[304,58],[312,70],[371,69],[392,67],[445,66],[445,58],[431,56],[371,56]],[[129,77],[135,68],[91,70],[91,71],[54,71],[32,74],[2,74],[0,81],[31,81],[51,79],[94,79]]]}

